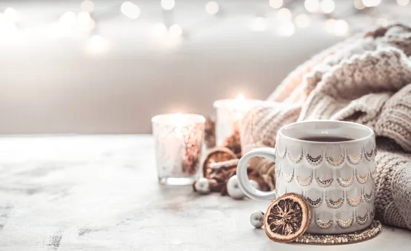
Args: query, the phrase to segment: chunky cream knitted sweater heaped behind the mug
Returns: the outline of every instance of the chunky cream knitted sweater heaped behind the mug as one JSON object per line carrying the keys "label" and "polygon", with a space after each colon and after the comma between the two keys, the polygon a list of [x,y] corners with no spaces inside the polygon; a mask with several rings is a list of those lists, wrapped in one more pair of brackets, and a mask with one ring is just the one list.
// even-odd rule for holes
{"label": "chunky cream knitted sweater heaped behind the mug", "polygon": [[[241,122],[243,151],[274,146],[279,127],[348,120],[377,136],[376,217],[411,229],[411,28],[393,24],[353,36],[290,73]],[[274,174],[273,174],[274,175]]]}

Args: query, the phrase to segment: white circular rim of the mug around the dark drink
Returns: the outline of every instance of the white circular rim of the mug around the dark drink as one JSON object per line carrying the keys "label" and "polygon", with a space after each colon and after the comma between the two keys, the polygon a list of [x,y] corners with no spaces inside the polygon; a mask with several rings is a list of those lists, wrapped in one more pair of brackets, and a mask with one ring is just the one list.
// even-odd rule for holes
{"label": "white circular rim of the mug around the dark drink", "polygon": [[[355,140],[346,140],[346,141],[339,141],[339,142],[318,142],[318,141],[311,141],[311,140],[300,140],[300,139],[297,139],[295,137],[290,137],[290,136],[287,136],[284,133],[282,133],[282,131],[284,129],[286,129],[286,127],[290,127],[290,126],[295,125],[295,124],[308,124],[308,123],[312,123],[312,122],[333,122],[333,123],[336,123],[336,124],[353,124],[356,127],[362,127],[364,129],[366,129],[367,131],[369,131],[369,135],[366,135],[364,137],[360,137],[360,138],[355,139]],[[350,144],[350,143],[360,142],[360,141],[363,141],[363,140],[368,140],[369,137],[374,136],[374,131],[370,127],[367,127],[364,124],[359,124],[359,123],[356,123],[356,122],[341,121],[341,120],[310,120],[310,121],[292,122],[290,124],[286,124],[286,125],[282,126],[280,129],[278,129],[278,134],[281,135],[282,137],[286,137],[289,140],[294,140],[294,141],[297,141],[297,142],[305,142],[305,143],[309,142],[310,144]]]}

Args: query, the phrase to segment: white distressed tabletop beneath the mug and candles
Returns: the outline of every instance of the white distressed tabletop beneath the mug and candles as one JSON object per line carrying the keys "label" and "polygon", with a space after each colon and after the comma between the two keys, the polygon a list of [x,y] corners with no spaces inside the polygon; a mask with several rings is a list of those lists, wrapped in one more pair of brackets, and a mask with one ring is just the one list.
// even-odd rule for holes
{"label": "white distressed tabletop beneath the mug and candles", "polygon": [[158,185],[150,135],[0,137],[0,250],[409,250],[393,227],[362,243],[274,243],[269,202]]}

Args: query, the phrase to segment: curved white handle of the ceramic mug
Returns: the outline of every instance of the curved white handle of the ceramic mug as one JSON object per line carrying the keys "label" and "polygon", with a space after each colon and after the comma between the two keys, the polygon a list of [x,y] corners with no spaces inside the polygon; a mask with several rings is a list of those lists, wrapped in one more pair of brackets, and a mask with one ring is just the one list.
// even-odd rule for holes
{"label": "curved white handle of the ceramic mug", "polygon": [[263,157],[275,163],[275,148],[256,148],[242,156],[237,165],[238,185],[240,185],[241,190],[245,195],[249,196],[249,198],[254,200],[275,200],[277,197],[275,191],[260,191],[249,182],[247,166],[252,157]]}

